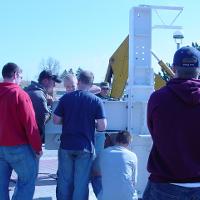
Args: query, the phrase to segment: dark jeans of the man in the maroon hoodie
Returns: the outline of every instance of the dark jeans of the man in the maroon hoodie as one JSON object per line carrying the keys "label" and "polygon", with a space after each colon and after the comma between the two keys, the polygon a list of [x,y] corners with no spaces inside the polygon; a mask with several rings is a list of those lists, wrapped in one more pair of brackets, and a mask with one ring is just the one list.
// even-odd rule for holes
{"label": "dark jeans of the man in the maroon hoodie", "polygon": [[143,200],[200,200],[200,187],[187,188],[148,181]]}

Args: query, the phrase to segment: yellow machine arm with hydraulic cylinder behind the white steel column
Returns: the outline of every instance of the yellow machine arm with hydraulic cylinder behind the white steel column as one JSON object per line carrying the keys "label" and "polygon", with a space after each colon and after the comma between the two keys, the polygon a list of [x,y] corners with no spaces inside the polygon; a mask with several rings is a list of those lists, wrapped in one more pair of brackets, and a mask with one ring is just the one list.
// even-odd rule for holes
{"label": "yellow machine arm with hydraulic cylinder behind the white steel column", "polygon": [[[128,49],[129,36],[121,43],[118,49],[109,59],[109,65],[105,77],[105,81],[112,85],[110,97],[120,99],[123,95],[124,88],[128,79]],[[155,53],[151,52],[157,59],[160,67],[167,73],[170,78],[174,77],[173,71],[162,61],[159,60]],[[163,87],[166,82],[159,74],[154,74],[155,90]]]}

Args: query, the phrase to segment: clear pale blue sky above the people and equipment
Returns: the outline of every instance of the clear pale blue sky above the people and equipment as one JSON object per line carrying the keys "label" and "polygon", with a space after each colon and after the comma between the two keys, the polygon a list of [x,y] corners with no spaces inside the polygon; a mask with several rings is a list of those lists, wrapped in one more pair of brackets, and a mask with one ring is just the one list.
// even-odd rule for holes
{"label": "clear pale blue sky above the people and equipment", "polygon": [[[41,60],[53,57],[61,71],[80,66],[101,81],[110,56],[128,35],[130,9],[140,4],[183,6],[175,23],[183,26],[183,45],[200,42],[197,0],[0,0],[0,69],[16,62],[24,79],[35,79]],[[160,15],[170,22],[174,13]],[[154,23],[160,23],[155,12]],[[165,62],[171,62],[176,49],[174,31],[152,31],[152,49]]]}

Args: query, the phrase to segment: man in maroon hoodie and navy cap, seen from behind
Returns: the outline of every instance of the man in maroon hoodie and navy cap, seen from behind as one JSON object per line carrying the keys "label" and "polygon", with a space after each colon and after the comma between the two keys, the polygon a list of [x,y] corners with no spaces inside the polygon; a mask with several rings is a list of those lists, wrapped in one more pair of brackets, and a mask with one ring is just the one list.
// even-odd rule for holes
{"label": "man in maroon hoodie and navy cap, seen from behind", "polygon": [[175,78],[148,102],[153,146],[143,200],[200,199],[200,52],[182,47],[173,68]]}

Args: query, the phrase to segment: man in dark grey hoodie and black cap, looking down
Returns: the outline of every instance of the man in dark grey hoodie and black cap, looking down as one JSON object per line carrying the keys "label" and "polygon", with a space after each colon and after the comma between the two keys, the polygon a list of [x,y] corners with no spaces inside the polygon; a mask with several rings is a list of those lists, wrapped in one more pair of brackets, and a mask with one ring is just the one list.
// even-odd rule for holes
{"label": "man in dark grey hoodie and black cap, looking down", "polygon": [[[43,70],[38,78],[38,83],[31,81],[30,86],[25,88],[29,94],[35,110],[37,125],[44,143],[45,124],[51,117],[51,96],[56,83],[61,83],[57,75],[53,75],[50,70]],[[51,103],[50,103],[51,102]]]}

